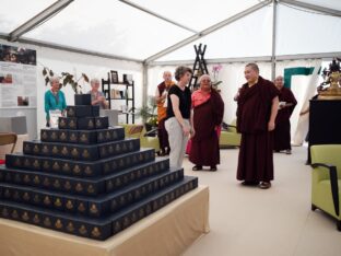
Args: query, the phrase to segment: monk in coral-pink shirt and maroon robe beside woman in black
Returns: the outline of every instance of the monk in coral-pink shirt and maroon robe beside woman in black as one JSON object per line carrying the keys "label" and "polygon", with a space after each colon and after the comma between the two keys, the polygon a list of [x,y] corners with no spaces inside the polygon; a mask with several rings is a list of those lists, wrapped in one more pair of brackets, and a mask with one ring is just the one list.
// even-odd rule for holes
{"label": "monk in coral-pink shirt and maroon robe beside woman in black", "polygon": [[217,127],[222,124],[224,102],[221,95],[211,86],[209,74],[199,80],[200,89],[192,93],[195,136],[191,138],[189,160],[196,164],[192,170],[200,171],[210,166],[216,171],[220,163]]}

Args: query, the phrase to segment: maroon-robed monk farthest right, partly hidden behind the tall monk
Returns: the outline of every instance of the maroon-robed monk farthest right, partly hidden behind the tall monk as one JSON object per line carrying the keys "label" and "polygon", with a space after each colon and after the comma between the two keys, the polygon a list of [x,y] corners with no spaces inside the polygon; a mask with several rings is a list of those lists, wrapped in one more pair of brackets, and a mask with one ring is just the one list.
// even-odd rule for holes
{"label": "maroon-robed monk farthest right, partly hidden behind the tall monk", "polygon": [[274,85],[280,91],[280,105],[275,118],[273,150],[277,152],[285,150],[286,154],[291,154],[290,117],[294,112],[297,101],[292,91],[284,88],[283,77],[277,77]]}

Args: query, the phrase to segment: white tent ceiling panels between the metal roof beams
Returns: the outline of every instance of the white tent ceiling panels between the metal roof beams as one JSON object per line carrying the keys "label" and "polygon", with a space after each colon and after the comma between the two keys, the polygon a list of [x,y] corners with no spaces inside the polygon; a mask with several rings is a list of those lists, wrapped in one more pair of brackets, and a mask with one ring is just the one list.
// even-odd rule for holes
{"label": "white tent ceiling panels between the metal roof beams", "polygon": [[[297,2],[293,0],[277,1],[280,3],[277,55],[341,51],[340,35],[337,34],[341,30],[340,0],[299,0],[299,7],[292,5]],[[54,2],[4,1],[0,9],[0,33],[9,35]],[[141,9],[125,2],[131,2]],[[193,32],[204,31],[259,2],[269,1],[173,0],[165,3],[156,0],[79,0],[24,34],[23,38],[143,60],[190,38],[196,35]],[[337,16],[316,14],[316,10],[303,8],[309,4],[326,8],[327,12],[336,13]],[[142,9],[150,12],[141,11]],[[267,5],[158,60],[192,59],[192,45],[198,43],[208,45],[205,57],[209,59],[269,56],[271,26],[272,8]],[[327,43],[324,35],[328,35]],[[254,39],[252,46],[243,44],[247,38]],[[314,44],[310,44],[311,40]]]}

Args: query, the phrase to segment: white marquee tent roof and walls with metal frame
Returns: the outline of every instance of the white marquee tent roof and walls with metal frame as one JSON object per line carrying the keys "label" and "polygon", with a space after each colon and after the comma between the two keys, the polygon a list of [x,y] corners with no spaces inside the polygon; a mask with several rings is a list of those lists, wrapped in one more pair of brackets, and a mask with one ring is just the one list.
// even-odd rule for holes
{"label": "white marquee tent roof and walls with metal frame", "polygon": [[[43,67],[98,78],[109,70],[132,73],[139,107],[154,94],[164,70],[192,66],[198,44],[207,45],[209,70],[223,66],[219,80],[228,121],[245,62],[257,61],[268,79],[290,67],[319,67],[341,56],[340,16],[340,0],[2,0],[0,44],[37,50],[38,128],[44,126]],[[313,80],[292,79],[298,109],[314,94],[307,90]],[[63,90],[72,104],[72,91]],[[298,110],[294,119],[295,128]]]}

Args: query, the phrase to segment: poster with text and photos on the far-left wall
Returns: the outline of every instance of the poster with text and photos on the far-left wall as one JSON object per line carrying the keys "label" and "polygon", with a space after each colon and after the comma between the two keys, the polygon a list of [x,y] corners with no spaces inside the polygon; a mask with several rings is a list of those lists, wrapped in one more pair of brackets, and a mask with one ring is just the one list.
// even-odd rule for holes
{"label": "poster with text and photos on the far-left wall", "polygon": [[36,50],[0,44],[0,108],[36,107]]}

